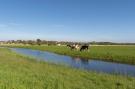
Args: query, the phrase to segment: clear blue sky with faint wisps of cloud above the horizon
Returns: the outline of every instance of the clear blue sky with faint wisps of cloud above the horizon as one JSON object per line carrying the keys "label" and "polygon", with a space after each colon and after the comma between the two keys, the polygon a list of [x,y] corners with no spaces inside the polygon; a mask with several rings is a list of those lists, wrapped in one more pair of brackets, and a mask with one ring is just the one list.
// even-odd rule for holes
{"label": "clear blue sky with faint wisps of cloud above the horizon", "polygon": [[135,42],[135,0],[0,0],[0,40]]}

